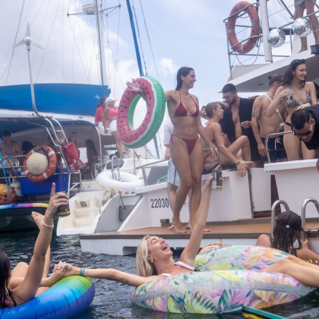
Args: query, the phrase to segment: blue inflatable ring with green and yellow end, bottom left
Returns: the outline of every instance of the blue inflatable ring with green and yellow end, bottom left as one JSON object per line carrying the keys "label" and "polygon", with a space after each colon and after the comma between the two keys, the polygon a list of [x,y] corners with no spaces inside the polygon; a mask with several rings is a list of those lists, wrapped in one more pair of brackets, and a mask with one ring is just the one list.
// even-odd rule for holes
{"label": "blue inflatable ring with green and yellow end, bottom left", "polygon": [[81,276],[65,277],[21,306],[0,309],[0,318],[69,318],[88,308],[93,298],[94,286],[90,279]]}

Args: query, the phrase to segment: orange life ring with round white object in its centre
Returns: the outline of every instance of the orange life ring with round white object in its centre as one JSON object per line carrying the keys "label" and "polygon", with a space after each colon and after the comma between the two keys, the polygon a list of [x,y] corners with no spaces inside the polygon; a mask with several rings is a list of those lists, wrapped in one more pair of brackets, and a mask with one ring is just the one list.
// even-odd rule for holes
{"label": "orange life ring with round white object in its centre", "polygon": [[23,161],[26,177],[32,182],[43,182],[49,178],[56,168],[56,154],[47,145],[34,147]]}

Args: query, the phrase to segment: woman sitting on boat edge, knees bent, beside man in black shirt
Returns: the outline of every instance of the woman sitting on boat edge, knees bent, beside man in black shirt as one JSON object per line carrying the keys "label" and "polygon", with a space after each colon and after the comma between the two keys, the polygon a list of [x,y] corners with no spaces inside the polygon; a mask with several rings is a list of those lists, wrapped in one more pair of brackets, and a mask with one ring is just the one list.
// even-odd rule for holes
{"label": "woman sitting on boat edge, knees bent, beside man in black shirt", "polygon": [[[251,161],[250,157],[250,146],[247,136],[240,136],[233,144],[228,148],[225,146],[223,133],[221,132],[221,126],[219,120],[223,118],[224,110],[217,102],[209,103],[205,107],[206,115],[209,121],[206,123],[207,132],[212,140],[212,143],[217,146],[220,154],[221,164],[234,163],[236,165],[238,174],[243,177],[246,175],[248,168],[254,166],[254,162]],[[206,145],[204,144],[204,148]],[[239,151],[242,151],[242,156],[244,160],[238,160],[236,155]],[[214,168],[216,162],[209,160],[209,154],[207,151],[204,152],[204,168],[206,170],[211,170]]]}

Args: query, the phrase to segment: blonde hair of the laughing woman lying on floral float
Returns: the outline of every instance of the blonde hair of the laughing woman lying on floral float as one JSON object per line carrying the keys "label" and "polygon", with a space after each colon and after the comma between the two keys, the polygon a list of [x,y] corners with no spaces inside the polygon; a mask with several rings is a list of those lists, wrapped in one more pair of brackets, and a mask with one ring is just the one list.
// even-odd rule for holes
{"label": "blonde hair of the laughing woman lying on floral float", "polygon": [[148,277],[157,275],[157,272],[148,259],[148,242],[147,239],[150,238],[150,235],[146,235],[142,238],[136,250],[136,268],[137,275],[142,277]]}

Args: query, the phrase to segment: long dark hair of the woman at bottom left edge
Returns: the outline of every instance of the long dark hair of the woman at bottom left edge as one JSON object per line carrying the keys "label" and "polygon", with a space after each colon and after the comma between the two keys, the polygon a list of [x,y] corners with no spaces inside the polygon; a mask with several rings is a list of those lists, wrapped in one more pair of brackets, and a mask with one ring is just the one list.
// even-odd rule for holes
{"label": "long dark hair of the woman at bottom left edge", "polygon": [[11,273],[11,265],[8,256],[5,252],[0,250],[0,308],[6,307],[6,300],[9,296],[14,305],[16,301],[12,297],[12,292],[8,288],[9,278]]}

